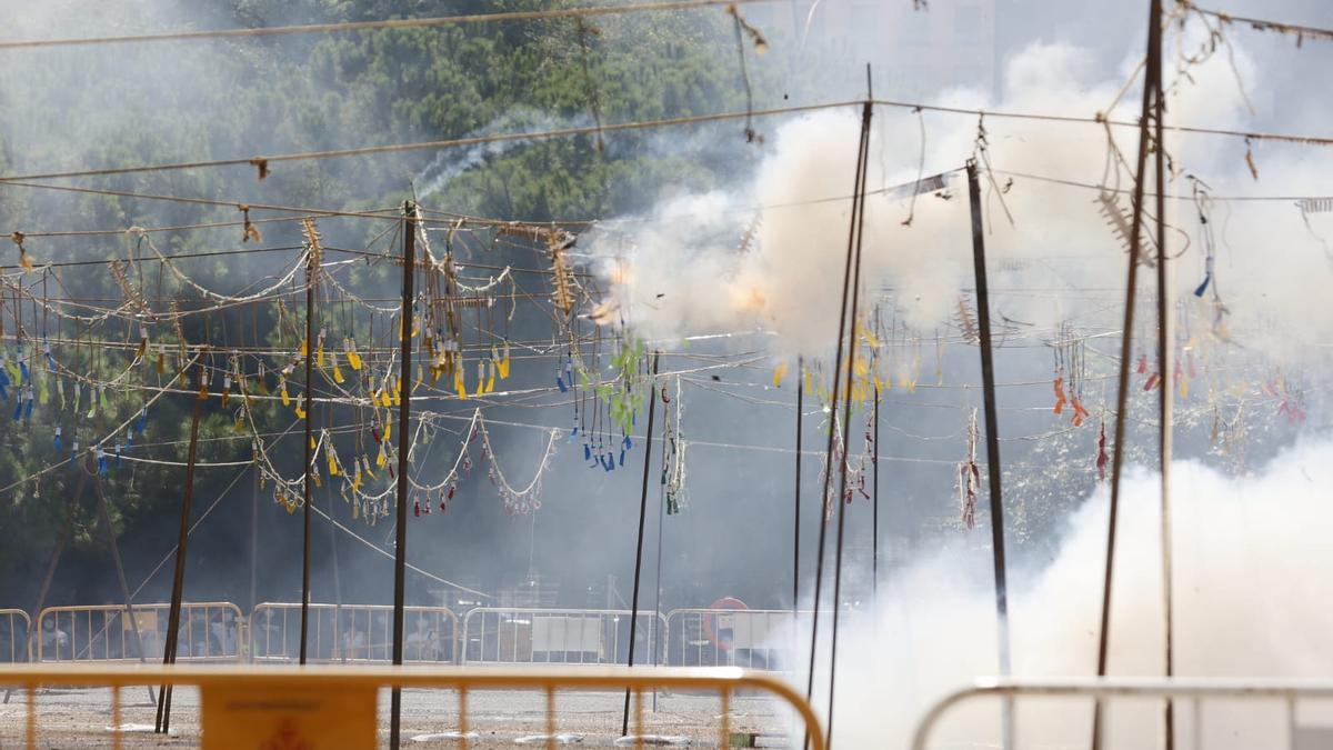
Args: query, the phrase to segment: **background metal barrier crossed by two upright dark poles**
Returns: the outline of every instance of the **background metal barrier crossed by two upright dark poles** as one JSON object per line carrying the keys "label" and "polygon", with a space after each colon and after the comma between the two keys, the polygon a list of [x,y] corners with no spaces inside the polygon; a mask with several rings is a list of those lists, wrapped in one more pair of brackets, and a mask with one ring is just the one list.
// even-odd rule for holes
{"label": "background metal barrier crossed by two upright dark poles", "polygon": [[[404,607],[404,662],[457,663],[459,615],[448,607]],[[312,603],[307,662],[389,662],[393,607]],[[300,655],[301,605],[255,605],[249,621],[251,661],[295,662]]]}

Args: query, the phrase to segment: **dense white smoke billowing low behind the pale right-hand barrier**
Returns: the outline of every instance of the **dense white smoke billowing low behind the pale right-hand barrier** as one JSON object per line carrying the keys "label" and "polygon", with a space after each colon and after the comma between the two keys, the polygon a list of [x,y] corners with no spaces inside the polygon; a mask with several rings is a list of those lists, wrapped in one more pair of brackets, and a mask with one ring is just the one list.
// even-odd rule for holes
{"label": "dense white smoke billowing low behind the pale right-hand barrier", "polygon": [[[1158,482],[1154,474],[1133,471],[1122,487],[1112,675],[1162,674]],[[1298,443],[1242,479],[1196,462],[1173,464],[1176,674],[1326,675],[1333,613],[1325,602],[1333,587],[1324,571],[1333,565],[1333,546],[1316,519],[1330,482],[1328,438]],[[1084,503],[1044,569],[1012,571],[1010,581],[1021,582],[1010,590],[1016,675],[1096,674],[1106,500],[1102,487]],[[850,626],[840,637],[837,743],[905,747],[914,722],[945,691],[998,671],[990,582],[964,573],[985,570],[978,558],[989,552],[965,544],[957,542],[890,577],[880,589],[878,617],[844,621]],[[826,690],[825,669],[816,681],[817,697]],[[1157,743],[1160,703],[1110,706],[1108,747]],[[1177,726],[1188,737],[1188,702],[1178,711]],[[1205,703],[1204,713],[1206,747],[1273,747],[1285,737],[1284,709],[1273,702]],[[972,703],[941,725],[934,746],[998,746],[998,717],[996,702]],[[1020,702],[1018,742],[1082,746],[1090,721],[1088,702]]]}

